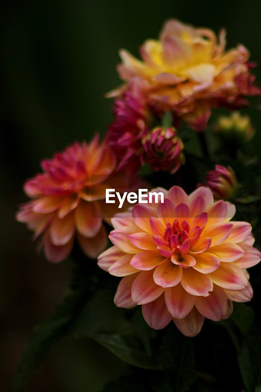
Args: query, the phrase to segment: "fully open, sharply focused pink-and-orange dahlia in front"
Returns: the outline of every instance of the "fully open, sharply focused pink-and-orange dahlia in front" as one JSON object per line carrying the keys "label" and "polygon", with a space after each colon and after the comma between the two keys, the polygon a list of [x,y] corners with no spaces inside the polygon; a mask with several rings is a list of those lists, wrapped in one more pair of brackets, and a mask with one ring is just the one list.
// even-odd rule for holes
{"label": "fully open, sharply focused pink-and-orange dahlia in front", "polygon": [[210,189],[189,196],[177,186],[153,192],[163,192],[164,202],[136,204],[112,218],[114,246],[98,265],[123,276],[114,298],[118,307],[142,305],[151,328],[173,319],[183,334],[195,336],[205,317],[228,318],[231,301],[250,301],[245,269],[259,263],[260,252],[252,247],[251,225],[231,222],[235,206],[214,202]]}

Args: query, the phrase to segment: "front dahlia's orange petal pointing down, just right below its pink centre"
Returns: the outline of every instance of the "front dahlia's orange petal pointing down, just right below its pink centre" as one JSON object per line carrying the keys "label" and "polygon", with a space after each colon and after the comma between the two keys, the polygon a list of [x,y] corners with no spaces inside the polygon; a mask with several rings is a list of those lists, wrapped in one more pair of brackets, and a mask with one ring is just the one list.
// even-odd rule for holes
{"label": "front dahlia's orange petal pointing down, just right below its pink centre", "polygon": [[201,274],[194,268],[183,269],[181,285],[192,295],[207,297],[213,290],[213,283],[208,275]]}

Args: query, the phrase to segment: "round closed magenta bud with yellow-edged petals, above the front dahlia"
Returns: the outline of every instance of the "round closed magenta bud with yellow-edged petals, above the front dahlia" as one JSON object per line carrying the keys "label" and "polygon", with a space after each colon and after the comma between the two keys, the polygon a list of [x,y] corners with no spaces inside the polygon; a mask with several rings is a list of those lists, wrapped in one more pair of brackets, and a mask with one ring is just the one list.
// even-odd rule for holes
{"label": "round closed magenta bud with yellow-edged petals, above the front dahlia", "polygon": [[175,173],[184,163],[183,143],[173,127],[156,127],[142,139],[142,160],[153,170]]}

